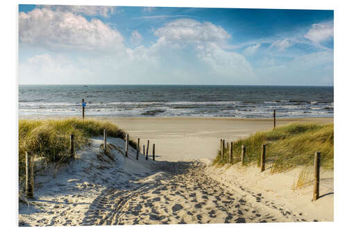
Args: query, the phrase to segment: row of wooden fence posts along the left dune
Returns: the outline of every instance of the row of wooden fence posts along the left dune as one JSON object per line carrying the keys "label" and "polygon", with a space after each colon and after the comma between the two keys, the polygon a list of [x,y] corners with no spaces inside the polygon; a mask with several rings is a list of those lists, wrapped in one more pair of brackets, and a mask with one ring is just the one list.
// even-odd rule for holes
{"label": "row of wooden fence posts along the left dune", "polygon": [[[104,152],[106,151],[107,146],[107,130],[103,130],[103,147]],[[128,157],[128,144],[129,144],[129,135],[126,135],[126,157]],[[69,155],[74,157],[75,148],[74,148],[74,134],[70,135],[69,141]],[[136,160],[139,160],[139,138],[137,138],[137,148],[136,148]],[[143,153],[144,155],[144,153]],[[25,194],[26,198],[34,198],[34,153],[26,151],[26,179],[25,179]],[[149,140],[147,141],[147,151],[146,151],[146,160],[149,160]],[[155,161],[155,144],[153,144],[153,161]]]}

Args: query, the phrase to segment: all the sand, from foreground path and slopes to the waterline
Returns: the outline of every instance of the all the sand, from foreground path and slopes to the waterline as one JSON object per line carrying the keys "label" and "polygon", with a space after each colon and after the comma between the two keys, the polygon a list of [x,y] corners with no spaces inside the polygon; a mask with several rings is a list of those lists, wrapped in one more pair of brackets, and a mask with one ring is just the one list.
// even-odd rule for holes
{"label": "all the sand, from foreground path and slopes to the waterline", "polygon": [[[19,205],[19,225],[126,225],[333,221],[333,173],[324,172],[322,198],[312,187],[292,190],[298,170],[274,174],[257,166],[211,166],[219,139],[230,141],[271,129],[267,119],[98,118],[155,143],[155,162],[109,137],[115,161],[100,155],[102,137],[77,151],[78,159],[38,171],[35,199]],[[278,119],[331,123],[332,118]],[[122,154],[123,153],[123,154]],[[151,149],[150,152],[151,153]],[[192,161],[198,160],[198,161]],[[55,178],[53,178],[55,176]]]}

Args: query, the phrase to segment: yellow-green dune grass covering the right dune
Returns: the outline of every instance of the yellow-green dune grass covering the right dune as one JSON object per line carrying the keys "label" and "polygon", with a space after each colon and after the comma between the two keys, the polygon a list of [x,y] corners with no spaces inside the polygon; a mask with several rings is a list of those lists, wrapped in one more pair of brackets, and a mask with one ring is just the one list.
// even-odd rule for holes
{"label": "yellow-green dune grass covering the right dune", "polygon": [[[226,141],[229,142],[229,141]],[[239,139],[233,144],[233,162],[241,161],[241,147],[246,146],[244,165],[258,164],[262,144],[266,144],[266,168],[271,172],[289,171],[296,166],[311,166],[314,153],[321,152],[321,167],[334,169],[334,125],[315,123],[291,123],[271,131],[257,132],[246,139]],[[224,151],[226,153],[226,150]],[[229,163],[228,155],[221,158],[221,150],[213,164],[222,166]]]}

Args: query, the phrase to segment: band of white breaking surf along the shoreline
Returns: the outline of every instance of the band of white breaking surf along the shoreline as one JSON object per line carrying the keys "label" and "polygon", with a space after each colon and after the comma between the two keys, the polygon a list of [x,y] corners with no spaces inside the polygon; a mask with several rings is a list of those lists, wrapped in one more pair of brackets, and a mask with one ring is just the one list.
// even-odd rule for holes
{"label": "band of white breaking surf along the shoreline", "polygon": [[[278,117],[331,117],[333,103],[296,105],[285,101],[251,103],[253,101],[179,101],[179,102],[112,102],[87,103],[85,113],[90,116],[115,117],[272,117],[276,109]],[[80,115],[81,103],[21,102],[19,114]]]}

